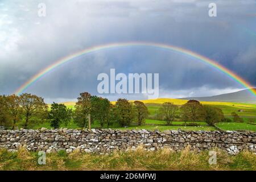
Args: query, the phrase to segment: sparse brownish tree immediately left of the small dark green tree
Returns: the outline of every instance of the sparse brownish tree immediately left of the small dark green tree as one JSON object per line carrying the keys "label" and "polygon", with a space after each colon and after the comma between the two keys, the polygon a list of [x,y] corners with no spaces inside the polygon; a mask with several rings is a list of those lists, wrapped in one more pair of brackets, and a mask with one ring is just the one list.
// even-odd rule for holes
{"label": "sparse brownish tree immediately left of the small dark green tree", "polygon": [[28,124],[31,121],[47,118],[48,106],[44,103],[44,99],[42,97],[23,93],[20,96],[20,106],[22,107],[22,115],[25,119],[24,129],[28,128]]}

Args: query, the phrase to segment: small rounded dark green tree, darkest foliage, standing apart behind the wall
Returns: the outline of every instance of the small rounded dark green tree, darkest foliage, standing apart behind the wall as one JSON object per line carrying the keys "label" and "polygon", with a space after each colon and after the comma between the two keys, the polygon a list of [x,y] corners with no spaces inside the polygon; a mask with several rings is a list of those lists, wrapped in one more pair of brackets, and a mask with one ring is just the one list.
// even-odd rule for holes
{"label": "small rounded dark green tree, darkest foliage, standing apart behind the wall", "polygon": [[51,104],[51,110],[48,113],[48,119],[51,122],[51,126],[57,129],[60,127],[60,123],[65,123],[65,126],[67,126],[71,115],[72,110],[68,109],[67,106],[53,102]]}

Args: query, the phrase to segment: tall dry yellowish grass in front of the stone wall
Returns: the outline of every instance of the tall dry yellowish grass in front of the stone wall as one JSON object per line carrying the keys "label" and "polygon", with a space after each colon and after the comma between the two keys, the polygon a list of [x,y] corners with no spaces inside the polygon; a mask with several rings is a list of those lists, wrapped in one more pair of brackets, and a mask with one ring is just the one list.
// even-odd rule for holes
{"label": "tall dry yellowish grass in front of the stone wall", "polygon": [[145,151],[142,146],[108,155],[87,154],[78,150],[46,155],[46,165],[39,165],[38,154],[20,147],[17,152],[0,150],[0,170],[256,170],[256,155],[242,151],[236,156],[214,148],[217,164],[210,165],[208,151],[200,153],[186,147],[175,152],[169,148]]}

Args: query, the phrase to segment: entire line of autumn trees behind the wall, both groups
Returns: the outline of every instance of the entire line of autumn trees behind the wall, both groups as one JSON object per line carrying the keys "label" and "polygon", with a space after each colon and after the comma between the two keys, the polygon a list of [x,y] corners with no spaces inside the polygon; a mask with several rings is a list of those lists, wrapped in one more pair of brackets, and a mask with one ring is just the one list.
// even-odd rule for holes
{"label": "entire line of autumn trees behind the wall, both groups", "polygon": [[[69,109],[64,104],[53,102],[49,107],[42,97],[23,93],[20,96],[0,96],[0,125],[15,129],[17,123],[22,123],[24,129],[36,123],[49,122],[52,127],[59,128],[61,124],[68,126],[73,122],[78,127],[88,127],[88,117],[92,124],[97,122],[100,127],[119,125],[129,126],[131,123],[143,125],[148,118],[148,109],[141,101],[130,102],[125,98],[119,98],[112,104],[107,98],[92,96],[88,92],[80,93],[75,104],[75,109]],[[242,122],[242,118],[232,113],[235,122]],[[202,105],[199,101],[189,100],[181,106],[171,102],[164,102],[159,107],[156,118],[166,121],[166,125],[179,119],[189,125],[196,125],[196,121],[205,121],[209,126],[217,122],[230,122],[225,118],[221,109]]]}

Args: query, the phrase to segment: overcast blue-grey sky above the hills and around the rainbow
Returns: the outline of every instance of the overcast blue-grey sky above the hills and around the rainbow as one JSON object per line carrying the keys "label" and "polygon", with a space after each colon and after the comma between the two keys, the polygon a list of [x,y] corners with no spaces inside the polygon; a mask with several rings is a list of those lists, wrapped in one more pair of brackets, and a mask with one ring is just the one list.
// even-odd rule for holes
{"label": "overcast blue-grey sky above the hills and around the rainbow", "polygon": [[[217,5],[209,17],[208,5]],[[38,16],[45,3],[46,16]],[[256,85],[256,2],[253,0],[0,1],[0,94],[12,94],[31,76],[82,49],[144,41],[200,53]],[[97,93],[97,75],[159,73],[159,97],[212,96],[243,87],[196,59],[149,47],[102,50],[61,65],[25,92],[51,101]],[[141,94],[103,95],[143,99]]]}

